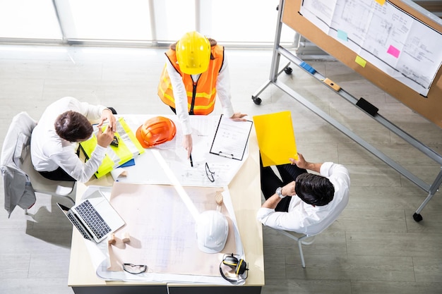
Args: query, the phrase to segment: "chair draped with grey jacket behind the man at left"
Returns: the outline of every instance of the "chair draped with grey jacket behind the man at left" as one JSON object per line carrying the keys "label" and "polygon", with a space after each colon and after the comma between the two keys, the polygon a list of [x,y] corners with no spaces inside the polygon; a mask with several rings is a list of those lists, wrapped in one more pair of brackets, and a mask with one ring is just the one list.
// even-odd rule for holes
{"label": "chair draped with grey jacket behind the man at left", "polygon": [[35,192],[66,197],[75,204],[76,182],[49,180],[35,171],[30,159],[30,137],[37,125],[26,112],[13,117],[1,148],[0,169],[4,180],[8,215],[18,205],[25,209],[35,202]]}

